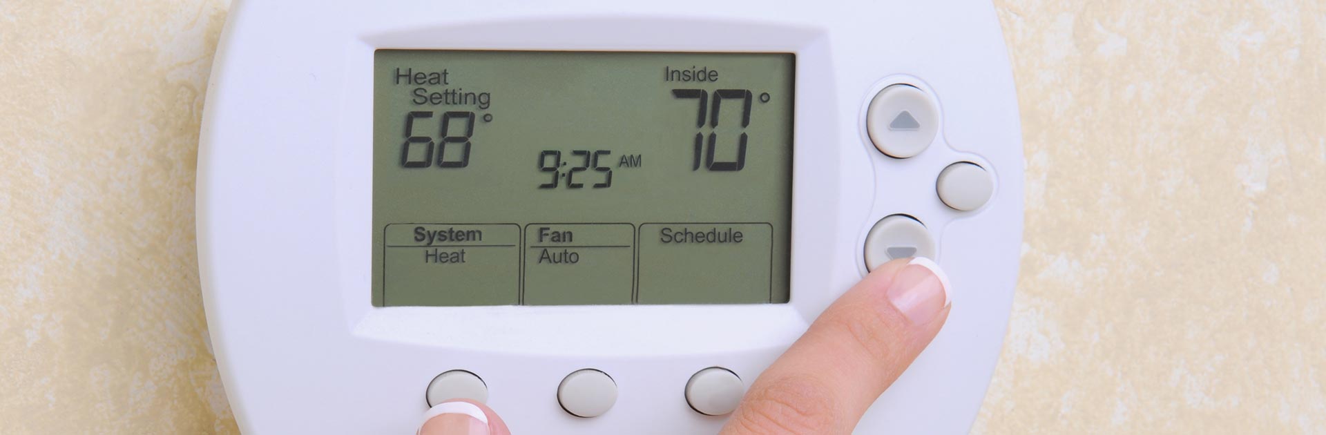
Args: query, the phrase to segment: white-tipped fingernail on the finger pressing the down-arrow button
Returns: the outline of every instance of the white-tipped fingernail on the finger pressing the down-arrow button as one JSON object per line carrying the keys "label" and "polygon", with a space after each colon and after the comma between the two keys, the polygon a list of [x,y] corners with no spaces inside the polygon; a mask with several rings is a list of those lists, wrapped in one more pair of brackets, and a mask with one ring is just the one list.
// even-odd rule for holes
{"label": "white-tipped fingernail on the finger pressing the down-arrow button", "polygon": [[888,302],[912,324],[924,325],[952,302],[948,276],[935,261],[915,257],[894,277]]}

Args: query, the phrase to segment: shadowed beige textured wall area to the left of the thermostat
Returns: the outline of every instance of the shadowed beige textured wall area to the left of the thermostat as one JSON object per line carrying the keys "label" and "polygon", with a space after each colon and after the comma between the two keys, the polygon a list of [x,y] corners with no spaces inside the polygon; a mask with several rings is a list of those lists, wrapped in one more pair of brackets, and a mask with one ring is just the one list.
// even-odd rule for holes
{"label": "shadowed beige textured wall area to the left of the thermostat", "polygon": [[0,0],[0,434],[236,432],[194,245],[223,1]]}

